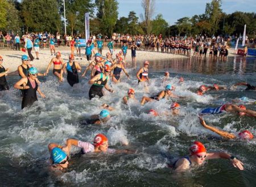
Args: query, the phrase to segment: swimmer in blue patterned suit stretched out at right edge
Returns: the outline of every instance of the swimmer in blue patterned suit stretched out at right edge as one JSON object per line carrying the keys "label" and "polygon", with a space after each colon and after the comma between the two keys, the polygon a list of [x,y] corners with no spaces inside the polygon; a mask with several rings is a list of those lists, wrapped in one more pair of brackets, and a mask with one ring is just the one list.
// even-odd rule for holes
{"label": "swimmer in blue patterned suit stretched out at right edge", "polygon": [[217,108],[205,108],[200,112],[200,116],[204,114],[220,114],[222,112],[237,113],[239,116],[256,117],[256,111],[246,109],[243,105],[224,104]]}

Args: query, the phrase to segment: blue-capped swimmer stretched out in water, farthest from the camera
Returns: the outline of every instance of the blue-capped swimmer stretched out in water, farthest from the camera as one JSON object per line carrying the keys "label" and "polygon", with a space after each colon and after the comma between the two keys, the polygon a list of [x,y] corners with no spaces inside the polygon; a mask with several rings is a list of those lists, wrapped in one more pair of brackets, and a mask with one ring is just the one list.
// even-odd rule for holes
{"label": "blue-capped swimmer stretched out in water, farthest from the camera", "polygon": [[160,91],[159,94],[156,95],[156,96],[152,96],[152,97],[143,96],[142,100],[141,100],[141,104],[144,105],[146,102],[150,102],[150,101],[153,101],[153,100],[159,101],[160,99],[168,99],[170,97],[172,97],[172,98],[184,98],[184,97],[180,97],[180,96],[177,96],[177,95],[173,94],[172,93],[173,88],[174,87],[172,87],[170,84],[168,84],[166,86],[166,90]]}

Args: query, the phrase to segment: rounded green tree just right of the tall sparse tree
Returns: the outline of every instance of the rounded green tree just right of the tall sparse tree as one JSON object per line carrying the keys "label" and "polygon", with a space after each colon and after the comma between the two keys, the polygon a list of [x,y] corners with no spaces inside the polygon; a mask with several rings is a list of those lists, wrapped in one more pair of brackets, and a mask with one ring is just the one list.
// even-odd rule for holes
{"label": "rounded green tree just right of the tall sparse tree", "polygon": [[162,33],[163,36],[166,35],[166,29],[168,28],[168,23],[163,19],[162,14],[156,15],[155,19],[152,21],[152,33],[159,35]]}

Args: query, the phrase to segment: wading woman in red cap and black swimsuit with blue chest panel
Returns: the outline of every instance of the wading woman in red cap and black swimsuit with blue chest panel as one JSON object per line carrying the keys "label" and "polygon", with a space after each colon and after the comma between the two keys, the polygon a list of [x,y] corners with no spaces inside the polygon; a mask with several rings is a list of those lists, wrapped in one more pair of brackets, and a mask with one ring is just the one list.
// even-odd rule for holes
{"label": "wading woman in red cap and black swimsuit with blue chest panel", "polygon": [[60,72],[60,81],[63,81],[63,73],[65,69],[67,69],[67,80],[70,86],[74,86],[74,84],[79,83],[79,75],[81,73],[81,66],[78,62],[75,62],[75,57],[73,54],[69,55],[69,61],[64,63],[61,72]]}

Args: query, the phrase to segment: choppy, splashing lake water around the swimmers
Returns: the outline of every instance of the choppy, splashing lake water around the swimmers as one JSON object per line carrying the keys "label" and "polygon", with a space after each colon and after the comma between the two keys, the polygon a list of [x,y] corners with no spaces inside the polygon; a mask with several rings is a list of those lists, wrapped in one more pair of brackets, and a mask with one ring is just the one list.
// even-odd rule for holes
{"label": "choppy, splashing lake water around the swimmers", "polygon": [[[42,92],[47,99],[41,99],[31,108],[20,110],[21,99],[14,88],[1,92],[0,98],[0,176],[1,186],[255,186],[256,184],[256,141],[226,141],[203,129],[197,113],[205,107],[217,106],[237,97],[247,96],[256,100],[254,91],[213,91],[197,96],[201,84],[217,83],[227,87],[239,81],[256,84],[256,59],[229,58],[228,62],[209,62],[192,59],[151,62],[151,94],[164,89],[164,71],[170,71],[175,94],[187,96],[179,100],[182,108],[179,117],[152,117],[146,114],[154,108],[167,111],[171,101],[160,100],[141,106],[122,104],[122,97],[133,87],[136,97],[143,95],[138,87],[135,71],[129,70],[130,80],[113,85],[114,94],[106,92],[102,99],[88,99],[88,78],[82,79],[75,89],[68,83],[59,84],[53,76],[39,78]],[[185,82],[179,84],[179,77]],[[87,75],[88,77],[88,75]],[[7,77],[13,85],[18,76]],[[115,107],[112,119],[105,125],[82,126],[81,121],[101,111],[99,105],[108,103]],[[255,104],[245,104],[256,110]],[[255,118],[238,117],[233,114],[207,116],[208,124],[219,126],[236,133],[249,129],[256,135]],[[137,150],[135,154],[79,155],[79,149],[72,151],[67,172],[55,176],[48,170],[50,142],[64,144],[67,138],[92,141],[94,135],[104,133],[109,137],[112,148]],[[217,137],[217,138],[212,138]],[[238,171],[228,160],[210,160],[207,164],[184,175],[175,175],[166,167],[167,156],[188,154],[188,147],[195,140],[205,144],[208,151],[227,151],[245,164],[245,171]],[[129,146],[121,146],[121,142]]]}

